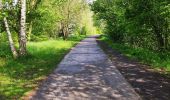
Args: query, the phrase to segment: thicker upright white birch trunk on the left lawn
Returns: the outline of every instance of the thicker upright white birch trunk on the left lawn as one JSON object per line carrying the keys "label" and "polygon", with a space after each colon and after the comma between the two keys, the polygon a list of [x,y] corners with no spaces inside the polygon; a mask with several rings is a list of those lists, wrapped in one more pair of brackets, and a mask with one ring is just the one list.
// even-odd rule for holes
{"label": "thicker upright white birch trunk on the left lawn", "polygon": [[20,34],[19,34],[19,54],[26,55],[26,0],[21,0],[21,19],[20,19]]}

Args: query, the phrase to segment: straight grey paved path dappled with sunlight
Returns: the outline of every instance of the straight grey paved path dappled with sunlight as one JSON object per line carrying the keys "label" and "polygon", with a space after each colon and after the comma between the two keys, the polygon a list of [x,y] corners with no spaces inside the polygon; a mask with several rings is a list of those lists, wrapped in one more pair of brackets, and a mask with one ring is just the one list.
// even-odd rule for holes
{"label": "straight grey paved path dappled with sunlight", "polygon": [[95,37],[81,41],[31,100],[140,100]]}

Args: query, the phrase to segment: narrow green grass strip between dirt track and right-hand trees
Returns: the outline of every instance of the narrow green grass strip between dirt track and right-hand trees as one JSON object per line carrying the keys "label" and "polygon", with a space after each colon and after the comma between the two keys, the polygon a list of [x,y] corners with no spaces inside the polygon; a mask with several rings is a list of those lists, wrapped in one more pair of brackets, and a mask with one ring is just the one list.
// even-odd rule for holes
{"label": "narrow green grass strip between dirt track and right-hand trees", "polygon": [[129,45],[113,43],[105,36],[101,40],[131,59],[138,59],[142,63],[154,66],[153,68],[155,69],[163,69],[166,72],[170,71],[170,52],[158,53],[143,48],[133,48]]}

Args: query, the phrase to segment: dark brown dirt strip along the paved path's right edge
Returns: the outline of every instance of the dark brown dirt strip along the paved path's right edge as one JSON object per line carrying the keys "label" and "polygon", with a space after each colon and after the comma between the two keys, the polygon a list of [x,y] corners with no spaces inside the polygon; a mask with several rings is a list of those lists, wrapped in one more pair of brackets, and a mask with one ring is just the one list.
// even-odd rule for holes
{"label": "dark brown dirt strip along the paved path's right edge", "polygon": [[98,44],[143,100],[169,100],[169,75],[124,56],[100,39]]}

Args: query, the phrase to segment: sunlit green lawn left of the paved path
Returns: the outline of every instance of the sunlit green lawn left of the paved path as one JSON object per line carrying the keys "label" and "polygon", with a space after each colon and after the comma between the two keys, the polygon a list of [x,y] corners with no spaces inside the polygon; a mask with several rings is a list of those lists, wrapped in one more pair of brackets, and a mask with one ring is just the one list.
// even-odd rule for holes
{"label": "sunlit green lawn left of the paved path", "polygon": [[0,43],[0,100],[19,99],[37,87],[82,37],[28,43],[26,57],[14,60],[7,43]]}

